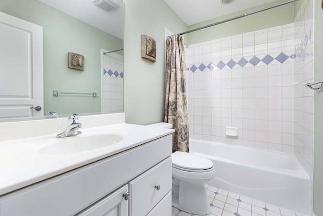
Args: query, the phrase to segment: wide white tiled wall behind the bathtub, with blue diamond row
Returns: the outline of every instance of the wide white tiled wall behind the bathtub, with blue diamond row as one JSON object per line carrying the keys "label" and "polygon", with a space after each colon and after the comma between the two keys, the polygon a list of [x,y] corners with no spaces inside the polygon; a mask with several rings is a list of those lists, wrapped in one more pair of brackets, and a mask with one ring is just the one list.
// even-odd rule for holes
{"label": "wide white tiled wall behind the bathtub, with blue diamond row", "polygon": [[293,152],[293,33],[288,24],[186,49],[191,138]]}

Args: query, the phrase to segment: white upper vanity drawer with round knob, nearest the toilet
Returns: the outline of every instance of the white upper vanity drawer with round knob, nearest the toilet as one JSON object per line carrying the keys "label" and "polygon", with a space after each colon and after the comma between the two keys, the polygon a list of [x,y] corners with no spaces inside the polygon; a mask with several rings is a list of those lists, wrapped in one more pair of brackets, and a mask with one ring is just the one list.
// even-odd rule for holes
{"label": "white upper vanity drawer with round knob, nearest the toilet", "polygon": [[129,186],[131,215],[146,215],[172,189],[172,158],[143,173]]}

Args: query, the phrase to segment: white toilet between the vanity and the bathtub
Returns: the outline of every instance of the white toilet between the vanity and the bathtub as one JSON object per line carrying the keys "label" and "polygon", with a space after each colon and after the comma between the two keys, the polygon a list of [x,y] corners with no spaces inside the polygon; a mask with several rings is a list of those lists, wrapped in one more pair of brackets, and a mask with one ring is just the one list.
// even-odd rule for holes
{"label": "white toilet between the vanity and the bathtub", "polygon": [[[169,123],[148,126],[172,128]],[[211,210],[204,183],[216,175],[212,161],[191,153],[176,151],[172,154],[172,163],[172,205],[191,214],[209,214]]]}

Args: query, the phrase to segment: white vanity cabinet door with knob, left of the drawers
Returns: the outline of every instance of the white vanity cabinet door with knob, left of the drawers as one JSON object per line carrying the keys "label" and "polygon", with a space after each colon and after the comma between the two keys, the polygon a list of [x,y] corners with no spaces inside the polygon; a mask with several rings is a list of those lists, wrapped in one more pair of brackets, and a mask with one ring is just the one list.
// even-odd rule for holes
{"label": "white vanity cabinet door with knob, left of the drawers", "polygon": [[123,196],[123,194],[128,193],[128,191],[128,185],[126,185],[76,215],[128,216],[128,200]]}

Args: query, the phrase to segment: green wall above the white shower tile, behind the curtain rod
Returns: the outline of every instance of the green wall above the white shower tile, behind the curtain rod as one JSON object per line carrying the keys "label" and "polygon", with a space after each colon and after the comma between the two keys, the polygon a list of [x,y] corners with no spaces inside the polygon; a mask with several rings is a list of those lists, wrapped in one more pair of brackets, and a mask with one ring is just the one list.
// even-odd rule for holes
{"label": "green wall above the white shower tile, behind the curtain rod", "polygon": [[[240,11],[237,13],[222,16],[216,19],[201,22],[195,25],[188,26],[188,29],[195,29],[201,26],[205,26],[211,23],[216,23],[221,20],[232,18],[241,14],[245,14],[251,11],[262,9],[268,6],[272,6],[278,3],[286,2],[286,0],[276,1],[270,4],[261,5],[248,10]],[[214,12],[215,13],[215,12]],[[294,3],[281,6],[275,9],[264,11],[258,14],[250,15],[238,20],[223,23],[217,26],[206,28],[200,31],[192,32],[188,35],[188,44],[200,43],[203,41],[218,39],[222,37],[232,36],[250,31],[256,31],[264,28],[270,28],[274,26],[289,24],[294,22]]]}

